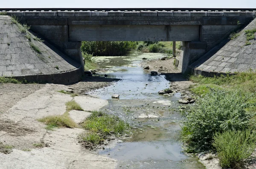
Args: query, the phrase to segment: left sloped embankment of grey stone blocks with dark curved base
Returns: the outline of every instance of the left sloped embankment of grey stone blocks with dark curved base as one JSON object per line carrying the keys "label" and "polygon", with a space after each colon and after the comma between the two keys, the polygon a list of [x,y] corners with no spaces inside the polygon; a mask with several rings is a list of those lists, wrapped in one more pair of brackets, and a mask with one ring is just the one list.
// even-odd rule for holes
{"label": "left sloped embankment of grey stone blocks with dark curved base", "polygon": [[33,82],[79,81],[82,66],[28,29],[12,17],[0,16],[0,76]]}

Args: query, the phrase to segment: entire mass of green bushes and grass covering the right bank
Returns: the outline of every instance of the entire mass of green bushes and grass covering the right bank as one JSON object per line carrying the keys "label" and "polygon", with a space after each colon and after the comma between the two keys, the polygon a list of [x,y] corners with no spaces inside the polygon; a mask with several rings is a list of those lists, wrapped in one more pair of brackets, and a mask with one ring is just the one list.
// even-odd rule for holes
{"label": "entire mass of green bushes and grass covering the right bank", "polygon": [[190,80],[198,100],[183,114],[186,151],[216,151],[222,167],[242,168],[256,148],[256,73]]}

